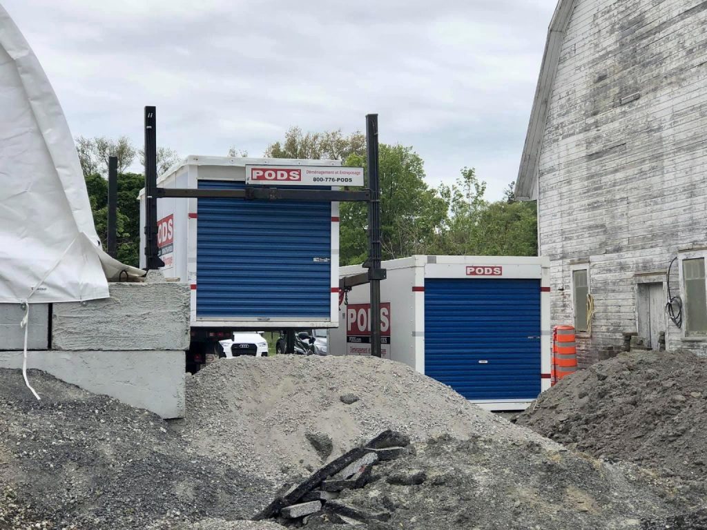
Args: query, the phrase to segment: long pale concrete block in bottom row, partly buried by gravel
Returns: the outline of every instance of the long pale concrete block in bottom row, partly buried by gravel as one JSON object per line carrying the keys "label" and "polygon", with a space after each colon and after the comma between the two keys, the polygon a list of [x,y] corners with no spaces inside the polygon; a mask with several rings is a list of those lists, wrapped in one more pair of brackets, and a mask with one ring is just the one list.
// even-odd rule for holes
{"label": "long pale concrete block in bottom row, partly buried by gravel", "polygon": [[[0,367],[21,368],[22,352],[0,352]],[[30,351],[27,367],[163,418],[185,415],[185,355],[181,350]]]}

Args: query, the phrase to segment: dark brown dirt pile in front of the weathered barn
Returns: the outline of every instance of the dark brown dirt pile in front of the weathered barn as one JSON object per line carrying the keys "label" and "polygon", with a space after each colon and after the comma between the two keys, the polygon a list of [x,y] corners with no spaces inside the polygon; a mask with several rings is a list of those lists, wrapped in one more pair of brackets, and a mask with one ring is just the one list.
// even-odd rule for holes
{"label": "dark brown dirt pile in front of the weathered barn", "polygon": [[516,421],[597,457],[705,481],[707,360],[619,355],[563,379]]}

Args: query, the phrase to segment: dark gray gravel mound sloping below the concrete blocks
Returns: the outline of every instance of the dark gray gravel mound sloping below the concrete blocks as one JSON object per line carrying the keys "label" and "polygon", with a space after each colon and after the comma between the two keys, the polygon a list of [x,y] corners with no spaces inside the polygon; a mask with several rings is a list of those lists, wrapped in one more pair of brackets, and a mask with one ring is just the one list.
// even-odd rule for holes
{"label": "dark gray gravel mound sloping below the concrete blocks", "polygon": [[[272,485],[197,454],[146,411],[30,370],[0,370],[0,529],[144,528],[180,519],[247,519]],[[3,526],[6,524],[6,526]],[[51,524],[52,526],[49,526]]]}

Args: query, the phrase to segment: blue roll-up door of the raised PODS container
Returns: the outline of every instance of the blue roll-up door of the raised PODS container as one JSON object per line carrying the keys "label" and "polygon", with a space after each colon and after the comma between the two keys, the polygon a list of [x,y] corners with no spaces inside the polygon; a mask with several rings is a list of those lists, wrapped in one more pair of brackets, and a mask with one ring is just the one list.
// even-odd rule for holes
{"label": "blue roll-up door of the raised PODS container", "polygon": [[331,204],[198,199],[197,207],[197,318],[329,319]]}

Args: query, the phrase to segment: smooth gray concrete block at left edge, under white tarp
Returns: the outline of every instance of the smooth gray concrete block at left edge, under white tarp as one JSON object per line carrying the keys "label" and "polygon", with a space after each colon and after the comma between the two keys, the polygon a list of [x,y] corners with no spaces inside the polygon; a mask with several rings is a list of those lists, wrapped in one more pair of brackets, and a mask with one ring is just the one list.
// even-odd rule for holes
{"label": "smooth gray concrete block at left edge, under white tarp", "polygon": [[[0,304],[0,350],[22,350],[25,346],[25,329],[20,322],[25,311],[20,304]],[[30,304],[27,347],[46,350],[49,343],[49,305]]]}

